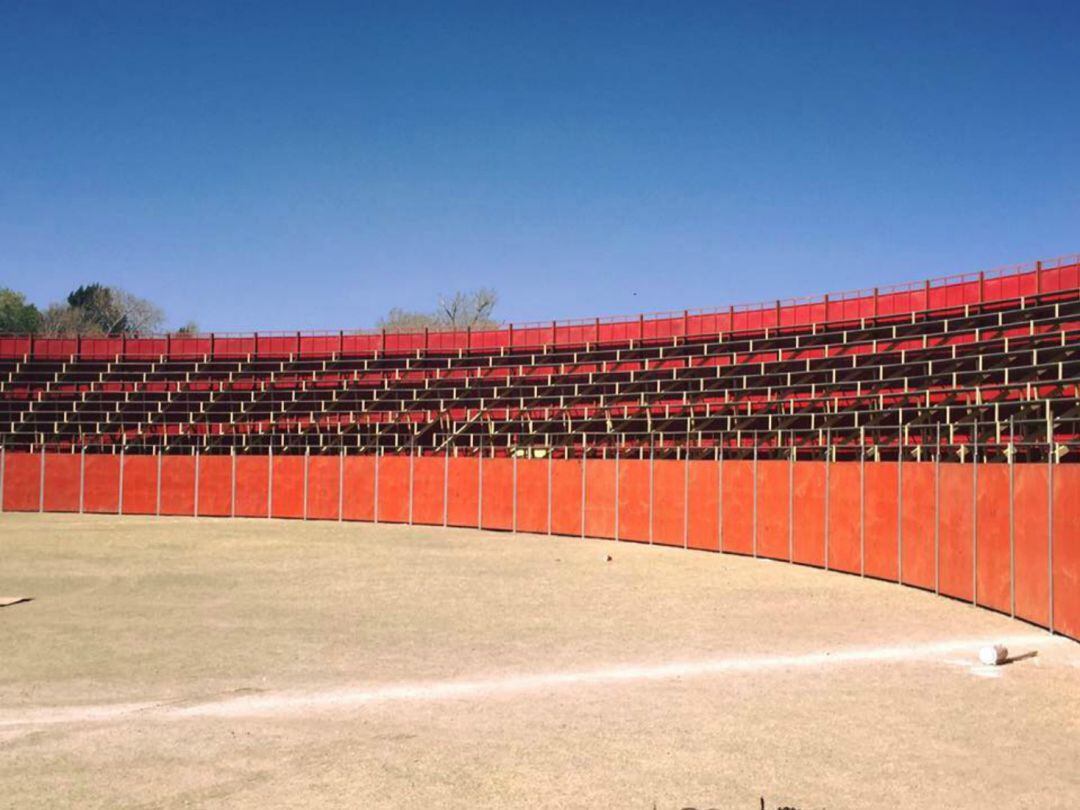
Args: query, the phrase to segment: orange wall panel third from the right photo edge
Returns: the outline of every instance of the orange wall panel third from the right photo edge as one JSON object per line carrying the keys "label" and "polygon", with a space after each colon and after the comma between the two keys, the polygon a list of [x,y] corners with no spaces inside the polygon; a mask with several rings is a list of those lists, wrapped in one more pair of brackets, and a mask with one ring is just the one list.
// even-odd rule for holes
{"label": "orange wall panel third from the right photo edge", "polygon": [[975,597],[983,607],[1008,613],[1009,465],[980,464],[975,501]]}

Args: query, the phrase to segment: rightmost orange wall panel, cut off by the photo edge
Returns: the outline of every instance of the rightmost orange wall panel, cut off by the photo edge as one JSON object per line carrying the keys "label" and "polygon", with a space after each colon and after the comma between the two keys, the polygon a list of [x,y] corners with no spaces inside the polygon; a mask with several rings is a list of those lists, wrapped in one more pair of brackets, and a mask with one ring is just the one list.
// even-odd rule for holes
{"label": "rightmost orange wall panel, cut off by the photo edge", "polygon": [[1054,465],[1054,630],[1080,640],[1080,465]]}

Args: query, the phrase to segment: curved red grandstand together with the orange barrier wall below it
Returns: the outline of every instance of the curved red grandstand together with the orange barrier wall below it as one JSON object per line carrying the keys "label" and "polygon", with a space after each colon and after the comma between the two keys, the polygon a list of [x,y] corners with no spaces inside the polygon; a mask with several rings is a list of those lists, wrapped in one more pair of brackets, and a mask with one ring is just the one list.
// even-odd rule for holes
{"label": "curved red grandstand together with the orange barrier wall below it", "polygon": [[767,557],[1080,639],[1080,257],[636,319],[0,337],[0,511]]}

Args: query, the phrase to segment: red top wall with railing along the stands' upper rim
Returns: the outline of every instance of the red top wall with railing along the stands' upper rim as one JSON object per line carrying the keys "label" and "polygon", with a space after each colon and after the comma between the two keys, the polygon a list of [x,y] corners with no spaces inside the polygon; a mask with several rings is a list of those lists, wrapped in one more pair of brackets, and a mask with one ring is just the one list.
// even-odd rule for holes
{"label": "red top wall with railing along the stands' upper rim", "polygon": [[498,350],[670,337],[907,314],[1080,288],[1080,255],[922,282],[832,293],[819,297],[733,305],[726,309],[653,312],[516,323],[496,329],[387,333],[257,332],[138,337],[0,336],[0,359],[156,360],[159,357],[321,357],[333,354]]}

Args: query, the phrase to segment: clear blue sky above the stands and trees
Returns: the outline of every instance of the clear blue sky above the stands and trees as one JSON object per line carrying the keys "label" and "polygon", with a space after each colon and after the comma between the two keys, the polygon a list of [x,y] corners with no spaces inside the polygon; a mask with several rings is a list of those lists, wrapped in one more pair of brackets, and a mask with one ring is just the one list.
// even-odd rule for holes
{"label": "clear blue sky above the stands and trees", "polygon": [[528,321],[1080,251],[1080,3],[0,0],[0,285]]}

